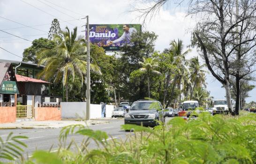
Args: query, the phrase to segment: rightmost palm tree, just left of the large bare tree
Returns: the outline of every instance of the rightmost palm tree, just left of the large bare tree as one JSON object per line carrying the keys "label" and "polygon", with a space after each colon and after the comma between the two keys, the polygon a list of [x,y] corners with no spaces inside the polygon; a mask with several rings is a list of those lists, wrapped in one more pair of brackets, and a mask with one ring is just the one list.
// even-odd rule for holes
{"label": "rightmost palm tree, just left of the large bare tree", "polygon": [[190,90],[190,100],[193,97],[194,89],[205,85],[206,71],[203,70],[203,67],[205,67],[205,64],[200,65],[198,57],[194,57],[189,60],[189,70],[191,73],[190,81],[194,83],[193,88]]}

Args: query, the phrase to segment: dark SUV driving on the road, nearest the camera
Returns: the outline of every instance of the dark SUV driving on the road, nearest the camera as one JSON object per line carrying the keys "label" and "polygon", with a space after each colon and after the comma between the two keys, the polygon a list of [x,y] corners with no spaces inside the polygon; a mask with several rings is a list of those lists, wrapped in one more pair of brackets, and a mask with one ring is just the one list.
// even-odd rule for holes
{"label": "dark SUV driving on the road, nearest the camera", "polygon": [[158,122],[165,123],[165,112],[159,101],[138,100],[132,104],[124,117],[124,124],[136,124],[154,127]]}

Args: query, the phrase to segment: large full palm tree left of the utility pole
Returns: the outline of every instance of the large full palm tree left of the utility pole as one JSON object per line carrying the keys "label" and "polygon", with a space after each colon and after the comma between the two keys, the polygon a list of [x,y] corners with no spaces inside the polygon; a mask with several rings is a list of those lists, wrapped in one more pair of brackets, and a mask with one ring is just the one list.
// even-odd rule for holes
{"label": "large full palm tree left of the utility pole", "polygon": [[[38,76],[44,76],[46,80],[53,78],[53,82],[62,80],[62,84],[66,88],[66,101],[68,102],[68,79],[72,77],[74,82],[75,74],[78,74],[81,76],[83,84],[87,64],[86,44],[82,36],[77,36],[77,27],[71,33],[66,27],[66,30],[61,31],[60,35],[54,36],[53,41],[57,45],[53,50],[44,49],[38,53],[38,65],[45,65]],[[101,75],[100,68],[94,60],[90,63],[90,69]]]}

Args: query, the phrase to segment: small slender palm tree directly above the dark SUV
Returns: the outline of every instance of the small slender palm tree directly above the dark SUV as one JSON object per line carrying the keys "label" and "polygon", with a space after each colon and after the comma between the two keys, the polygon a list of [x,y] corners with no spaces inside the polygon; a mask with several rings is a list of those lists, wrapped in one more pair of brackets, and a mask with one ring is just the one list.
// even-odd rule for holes
{"label": "small slender palm tree directly above the dark SUV", "polygon": [[142,65],[142,67],[139,70],[142,71],[142,72],[145,72],[146,75],[147,75],[147,79],[148,79],[148,96],[150,98],[150,75],[151,74],[161,75],[160,72],[155,70],[155,68],[158,67],[158,62],[155,59],[144,58],[143,57],[143,62],[139,61],[139,64]]}

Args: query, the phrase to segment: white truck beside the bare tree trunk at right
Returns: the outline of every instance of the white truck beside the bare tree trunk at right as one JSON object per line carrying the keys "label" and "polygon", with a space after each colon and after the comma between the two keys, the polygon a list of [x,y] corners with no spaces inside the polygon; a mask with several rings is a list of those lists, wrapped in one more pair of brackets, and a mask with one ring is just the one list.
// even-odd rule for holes
{"label": "white truck beside the bare tree trunk at right", "polygon": [[[235,101],[231,100],[232,103],[232,108],[234,109],[235,107]],[[227,107],[227,102],[226,99],[222,99],[222,100],[214,100],[214,106],[212,109],[212,114],[227,114],[228,113],[228,107]]]}

